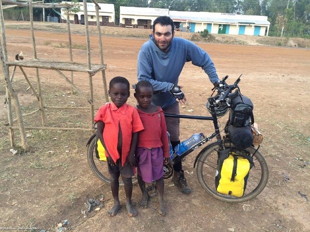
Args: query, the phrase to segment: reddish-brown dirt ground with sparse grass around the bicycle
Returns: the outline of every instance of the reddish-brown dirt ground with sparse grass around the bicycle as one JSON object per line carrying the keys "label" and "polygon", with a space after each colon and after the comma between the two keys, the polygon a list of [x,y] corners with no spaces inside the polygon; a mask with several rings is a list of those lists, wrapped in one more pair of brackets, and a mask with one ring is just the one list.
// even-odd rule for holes
{"label": "reddish-brown dirt ground with sparse grass around the bicycle", "polygon": [[[6,24],[5,37],[8,60],[20,51],[24,59],[33,57],[32,41],[27,23]],[[46,25],[46,24],[44,24]],[[69,61],[66,25],[35,24],[35,44],[38,58]],[[93,29],[91,27],[91,29]],[[139,47],[147,40],[143,29],[102,27],[104,63],[107,81],[121,75],[136,82],[136,58]],[[95,31],[95,28],[94,28]],[[110,31],[109,34],[105,33]],[[139,37],[142,31],[146,36]],[[112,34],[114,33],[114,34]],[[128,35],[130,37],[124,37]],[[189,39],[190,33],[180,34]],[[255,199],[227,204],[213,199],[199,185],[193,161],[200,149],[183,162],[185,176],[193,192],[183,195],[165,180],[167,215],[157,215],[157,198],[150,199],[149,208],[140,209],[138,186],[133,187],[133,202],[138,210],[128,217],[124,207],[124,192],[120,189],[122,207],[115,217],[106,211],[112,205],[109,185],[100,182],[90,171],[86,160],[86,142],[93,131],[27,130],[30,151],[13,155],[9,150],[6,105],[0,108],[0,230],[59,231],[57,224],[68,220],[63,229],[76,232],[308,232],[310,199],[310,50],[298,46],[261,45],[254,38],[234,36],[234,44],[195,41],[213,59],[218,75],[228,75],[228,83],[242,74],[241,93],[254,103],[254,116],[264,140],[260,153],[269,167],[266,188]],[[260,40],[263,38],[259,38]],[[266,39],[270,39],[267,38]],[[73,61],[87,62],[84,28],[72,25]],[[294,42],[297,44],[297,42]],[[90,34],[91,62],[100,63],[98,39]],[[305,46],[306,47],[306,46]],[[36,87],[35,69],[24,68],[29,81]],[[11,71],[11,68],[10,68]],[[65,72],[64,72],[65,73]],[[69,76],[69,73],[65,73]],[[82,106],[87,102],[79,93],[70,93],[70,86],[54,70],[39,69],[44,105]],[[187,63],[180,75],[180,84],[187,98],[181,114],[208,115],[205,109],[211,94],[211,83],[198,67]],[[5,82],[1,75],[0,95],[5,97]],[[74,83],[88,94],[88,76],[74,72]],[[92,78],[94,106],[104,104],[101,74]],[[16,69],[13,88],[18,93],[23,112],[38,106],[20,69]],[[133,92],[128,103],[135,104]],[[51,127],[89,128],[88,110],[46,109],[46,122]],[[221,119],[223,127],[227,116]],[[26,126],[40,126],[40,115],[24,119]],[[211,123],[181,120],[181,140],[192,133],[212,132]],[[16,142],[20,143],[18,130]],[[82,214],[88,199],[103,198],[104,207]]]}

